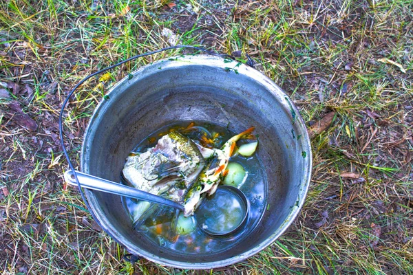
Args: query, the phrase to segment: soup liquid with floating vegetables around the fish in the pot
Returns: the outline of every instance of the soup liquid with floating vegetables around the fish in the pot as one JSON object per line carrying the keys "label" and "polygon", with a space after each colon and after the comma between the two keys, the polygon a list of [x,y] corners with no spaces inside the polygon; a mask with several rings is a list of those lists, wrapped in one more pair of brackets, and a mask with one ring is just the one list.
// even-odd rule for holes
{"label": "soup liquid with floating vegetables around the fish in the pot", "polygon": [[[185,131],[189,126],[191,126],[191,129],[195,129],[195,131]],[[134,152],[143,153],[147,151],[148,148],[156,145],[160,137],[172,131],[179,131],[182,135],[202,144],[202,146],[209,145],[215,148],[221,148],[227,140],[236,134],[230,131],[229,127],[209,122],[196,121],[169,124],[148,135],[136,146]],[[206,144],[206,142],[209,144]],[[240,140],[237,142],[237,145],[245,142],[247,141]],[[226,199],[217,194],[207,197],[208,200],[212,200],[212,203],[209,203],[209,205],[215,205],[217,207],[215,210],[217,211],[220,208],[231,209],[218,211],[220,213],[215,211],[217,212],[217,217],[219,216],[220,224],[210,224],[209,221],[195,219],[196,210],[195,216],[184,218],[182,213],[178,217],[178,213],[173,208],[154,205],[153,203],[151,208],[147,210],[150,214],[147,214],[147,217],[142,215],[136,221],[134,212],[136,212],[138,207],[138,201],[123,197],[123,203],[130,214],[131,221],[135,223],[136,230],[152,241],[153,245],[158,245],[174,252],[200,254],[200,256],[211,251],[228,250],[235,244],[235,240],[242,241],[253,231],[266,210],[266,173],[257,153],[254,153],[251,157],[244,157],[235,153],[229,162],[230,164],[233,163],[233,166],[242,166],[245,170],[245,173],[237,173],[231,177],[231,180],[235,178],[237,182],[229,183],[242,190],[250,204],[248,220],[242,229],[228,236],[210,236],[202,230],[202,226],[213,227],[216,230],[226,230],[240,221],[242,210],[239,203],[236,200]],[[237,177],[240,174],[241,178]],[[228,180],[223,180],[221,184],[224,184],[224,182],[228,183]],[[214,212],[213,209],[209,211]]]}

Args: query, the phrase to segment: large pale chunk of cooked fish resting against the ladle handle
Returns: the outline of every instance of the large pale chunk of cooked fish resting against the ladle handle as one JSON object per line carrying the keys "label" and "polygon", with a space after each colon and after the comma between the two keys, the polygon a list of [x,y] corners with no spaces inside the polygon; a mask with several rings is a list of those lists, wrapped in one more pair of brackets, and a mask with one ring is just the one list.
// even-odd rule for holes
{"label": "large pale chunk of cooked fish resting against the ladle handle", "polygon": [[[195,143],[173,131],[145,153],[127,157],[123,175],[135,188],[183,203],[204,165]],[[149,203],[140,203],[136,219],[149,208]]]}

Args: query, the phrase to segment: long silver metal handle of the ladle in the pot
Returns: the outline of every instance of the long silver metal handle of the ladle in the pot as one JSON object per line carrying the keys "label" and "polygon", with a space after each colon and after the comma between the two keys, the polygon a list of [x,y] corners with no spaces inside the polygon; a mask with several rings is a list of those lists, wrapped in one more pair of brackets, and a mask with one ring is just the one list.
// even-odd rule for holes
{"label": "long silver metal handle of the ladle in the pot", "polygon": [[[100,177],[94,177],[92,175],[88,175],[85,173],[81,173],[76,171],[76,176],[78,178],[79,183],[83,188],[98,190],[101,192],[107,192],[111,194],[116,194],[125,197],[131,197],[134,199],[140,199],[142,201],[149,201],[153,203],[162,204],[164,206],[170,206],[173,208],[177,208],[181,211],[184,210],[184,206],[175,201],[171,201],[170,199],[165,199],[163,197],[153,195],[149,192],[145,192],[142,190],[138,190],[136,188],[131,188],[129,186],[125,186],[123,184],[118,184],[114,181],[108,181],[107,179],[102,179]],[[72,170],[67,170],[65,172],[65,181],[67,184],[77,186],[76,179],[74,178],[74,174]]]}

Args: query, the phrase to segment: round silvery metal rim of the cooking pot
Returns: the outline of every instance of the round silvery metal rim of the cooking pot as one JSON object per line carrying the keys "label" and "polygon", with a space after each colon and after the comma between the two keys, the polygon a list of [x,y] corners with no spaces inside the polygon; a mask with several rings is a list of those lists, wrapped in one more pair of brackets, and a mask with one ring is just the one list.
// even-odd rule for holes
{"label": "round silvery metal rim of the cooking pot", "polygon": [[[237,61],[231,61],[231,62],[237,62]],[[162,63],[162,68],[171,68],[171,67],[181,67],[181,66],[187,66],[189,64],[191,65],[204,65],[204,66],[210,66],[210,67],[220,67],[223,69],[223,74],[225,73],[234,73],[234,72],[225,72],[224,70],[226,67],[231,67],[231,63],[224,63],[224,58],[222,57],[217,57],[217,56],[211,56],[208,54],[198,54],[198,55],[191,55],[191,56],[173,56],[170,58],[165,58],[160,61],[156,61],[153,63],[149,63],[145,66],[142,66],[136,71],[131,72],[131,74],[134,76],[133,79],[136,78],[136,76],[144,73],[147,70],[151,70],[153,68],[158,68],[159,65]],[[271,94],[277,98],[277,101],[279,104],[281,104],[284,109],[290,110],[290,119],[293,119],[293,115],[291,113],[295,112],[295,120],[294,124],[301,131],[297,131],[297,135],[301,135],[300,140],[297,140],[297,143],[301,144],[302,148],[304,151],[306,151],[306,157],[304,158],[304,180],[301,181],[300,185],[300,190],[298,192],[298,200],[297,203],[293,208],[291,208],[288,216],[286,217],[284,223],[279,226],[273,234],[268,236],[267,239],[262,241],[261,243],[258,243],[255,245],[254,248],[251,250],[247,250],[246,252],[243,252],[242,254],[238,254],[237,256],[233,256],[231,258],[227,258],[224,260],[220,261],[213,261],[213,262],[206,262],[206,263],[186,263],[186,262],[180,262],[180,261],[173,261],[170,259],[165,259],[162,258],[162,256],[158,256],[155,254],[151,254],[145,250],[135,250],[133,247],[129,245],[129,242],[124,242],[120,241],[120,239],[123,239],[122,234],[118,234],[116,230],[112,230],[111,227],[109,227],[109,222],[107,219],[104,217],[104,215],[101,214],[100,211],[97,211],[97,201],[96,198],[93,195],[92,190],[85,190],[85,195],[87,197],[87,201],[89,201],[89,205],[91,210],[94,212],[94,216],[98,219],[98,224],[100,225],[103,230],[109,236],[112,237],[117,243],[122,245],[128,252],[135,254],[137,256],[142,256],[145,259],[148,259],[149,261],[152,261],[154,263],[158,263],[160,265],[168,265],[170,267],[177,267],[181,269],[211,269],[211,268],[217,268],[217,267],[224,267],[228,265],[233,265],[235,263],[239,263],[241,261],[244,261],[248,259],[249,257],[257,254],[258,252],[261,252],[265,248],[268,248],[275,240],[279,238],[286,230],[287,228],[293,223],[297,215],[299,214],[299,211],[301,210],[302,206],[304,205],[304,201],[308,192],[308,188],[310,186],[310,180],[311,180],[311,172],[313,168],[313,154],[311,151],[311,143],[310,143],[310,137],[308,136],[308,132],[306,129],[306,124],[301,118],[301,115],[295,107],[295,104],[293,104],[293,101],[290,100],[289,96],[277,85],[271,80],[271,78],[268,78],[268,76],[265,76],[262,74],[262,72],[257,71],[257,69],[254,69],[253,67],[249,67],[248,65],[245,65],[241,63],[237,67],[237,74],[243,74],[244,76],[247,76],[249,78],[255,79],[258,83],[263,85],[268,91],[271,91]],[[118,81],[114,87],[109,89],[107,95],[108,96],[113,96],[113,94],[116,94],[117,88],[125,83],[125,81],[129,81],[129,76],[125,76],[122,80]],[[94,119],[98,116],[99,110],[104,104],[105,100],[102,100],[99,102],[98,106],[96,109],[94,109],[94,113],[91,116],[89,123],[87,124],[87,128],[85,130],[85,133],[83,135],[83,144],[82,144],[82,150],[81,150],[81,170],[84,173],[89,173],[89,167],[87,163],[85,162],[85,155],[86,155],[86,147],[87,147],[87,135],[89,135],[89,132],[91,131],[91,122],[94,121]]]}

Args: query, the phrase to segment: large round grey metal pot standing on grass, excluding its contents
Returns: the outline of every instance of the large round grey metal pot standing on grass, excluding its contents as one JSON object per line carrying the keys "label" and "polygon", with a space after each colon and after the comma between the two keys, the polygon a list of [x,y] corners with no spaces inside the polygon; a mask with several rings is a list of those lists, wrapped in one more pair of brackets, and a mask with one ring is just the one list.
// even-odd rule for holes
{"label": "large round grey metal pot standing on grass, excluding its contents", "polygon": [[109,91],[85,132],[83,172],[112,181],[128,153],[160,126],[207,120],[235,132],[255,126],[257,151],[268,181],[268,208],[244,241],[224,252],[174,253],[154,246],[134,230],[121,198],[85,190],[103,229],[129,252],[172,267],[204,269],[240,262],[271,245],[293,222],[310,183],[311,148],[293,102],[252,67],[224,58],[178,56],[138,69]]}

